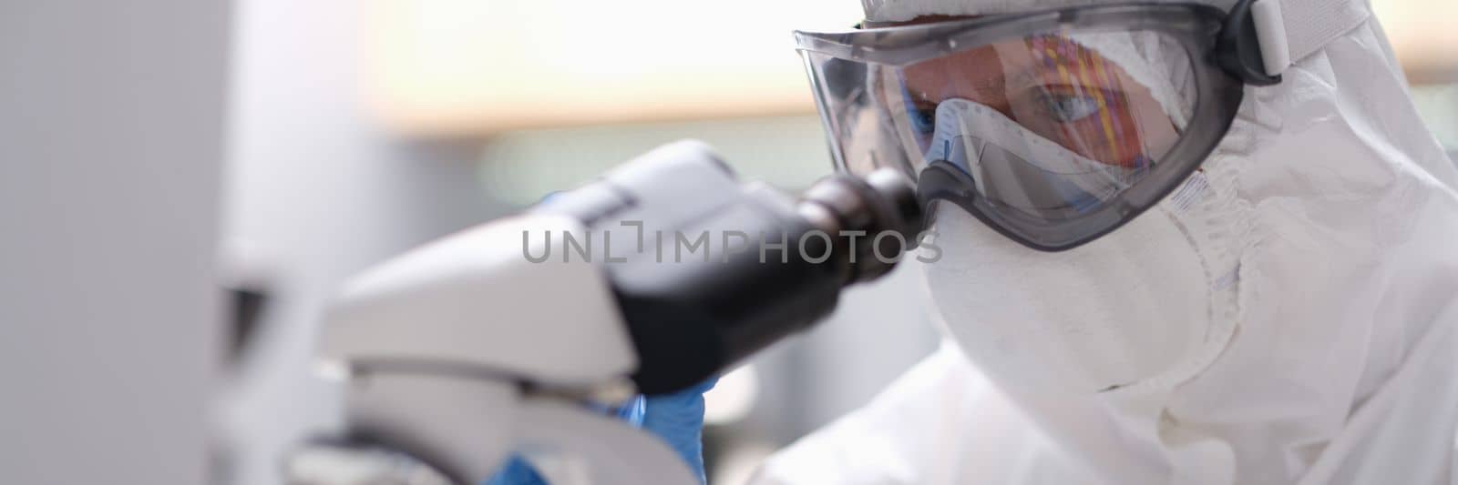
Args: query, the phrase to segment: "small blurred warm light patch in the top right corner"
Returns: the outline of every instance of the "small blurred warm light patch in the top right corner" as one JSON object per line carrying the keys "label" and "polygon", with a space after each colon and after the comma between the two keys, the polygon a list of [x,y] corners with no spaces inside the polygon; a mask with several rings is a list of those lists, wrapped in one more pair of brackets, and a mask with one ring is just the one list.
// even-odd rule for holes
{"label": "small blurred warm light patch in the top right corner", "polygon": [[1403,70],[1414,83],[1458,82],[1458,1],[1372,0]]}

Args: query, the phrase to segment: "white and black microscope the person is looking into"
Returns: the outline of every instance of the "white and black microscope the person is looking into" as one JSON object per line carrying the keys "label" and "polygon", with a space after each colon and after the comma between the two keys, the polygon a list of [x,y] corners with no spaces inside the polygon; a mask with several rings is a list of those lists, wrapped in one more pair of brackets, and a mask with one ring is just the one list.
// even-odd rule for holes
{"label": "white and black microscope the person is looking into", "polygon": [[319,351],[346,430],[300,446],[284,475],[469,485],[529,454],[554,460],[553,484],[697,484],[602,406],[690,387],[811,326],[921,227],[895,169],[796,198],[739,182],[701,143],[656,149],[350,281]]}

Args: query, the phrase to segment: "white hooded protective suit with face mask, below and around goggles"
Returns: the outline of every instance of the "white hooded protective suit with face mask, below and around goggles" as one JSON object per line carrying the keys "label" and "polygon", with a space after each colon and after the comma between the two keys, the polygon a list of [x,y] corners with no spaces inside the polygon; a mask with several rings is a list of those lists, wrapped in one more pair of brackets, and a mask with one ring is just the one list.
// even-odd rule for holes
{"label": "white hooded protective suit with face mask, below and around goggles", "polygon": [[948,342],[755,482],[1458,484],[1458,170],[1378,22],[1338,33],[1094,243],[1034,252],[943,207],[926,274]]}

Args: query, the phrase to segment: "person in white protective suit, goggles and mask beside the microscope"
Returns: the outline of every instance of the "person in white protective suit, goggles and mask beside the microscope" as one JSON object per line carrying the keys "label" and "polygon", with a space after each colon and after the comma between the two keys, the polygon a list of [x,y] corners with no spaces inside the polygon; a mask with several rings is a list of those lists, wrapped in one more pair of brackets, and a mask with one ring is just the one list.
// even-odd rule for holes
{"label": "person in white protective suit, goggles and mask beside the microscope", "polygon": [[[1366,1],[1261,3],[799,32],[838,169],[919,181],[946,342],[755,482],[1458,479],[1458,170]],[[646,414],[697,457],[697,395]]]}

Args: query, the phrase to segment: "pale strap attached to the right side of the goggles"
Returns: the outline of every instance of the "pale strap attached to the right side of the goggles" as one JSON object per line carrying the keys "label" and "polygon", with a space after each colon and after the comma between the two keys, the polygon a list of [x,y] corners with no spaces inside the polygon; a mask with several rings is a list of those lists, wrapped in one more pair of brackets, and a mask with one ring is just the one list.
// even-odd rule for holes
{"label": "pale strap attached to the right side of the goggles", "polygon": [[1266,73],[1279,76],[1368,20],[1366,0],[1255,0],[1251,4]]}

